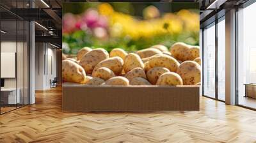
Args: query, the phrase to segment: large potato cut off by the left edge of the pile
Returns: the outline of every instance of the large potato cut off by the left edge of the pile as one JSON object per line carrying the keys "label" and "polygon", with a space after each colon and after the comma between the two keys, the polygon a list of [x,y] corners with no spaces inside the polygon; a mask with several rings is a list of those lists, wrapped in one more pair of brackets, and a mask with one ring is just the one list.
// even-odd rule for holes
{"label": "large potato cut off by the left edge of the pile", "polygon": [[62,80],[63,82],[76,82],[84,84],[86,79],[86,73],[79,64],[70,60],[62,61]]}

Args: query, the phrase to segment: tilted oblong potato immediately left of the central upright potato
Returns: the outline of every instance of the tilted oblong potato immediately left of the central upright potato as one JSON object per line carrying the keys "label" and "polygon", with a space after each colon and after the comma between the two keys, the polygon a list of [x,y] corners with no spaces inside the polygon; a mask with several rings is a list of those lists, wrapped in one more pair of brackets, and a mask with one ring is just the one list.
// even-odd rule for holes
{"label": "tilted oblong potato immediately left of the central upright potato", "polygon": [[109,68],[111,71],[115,73],[115,75],[119,75],[124,66],[124,61],[121,57],[110,57],[109,59],[105,59],[95,66],[93,72],[101,67]]}

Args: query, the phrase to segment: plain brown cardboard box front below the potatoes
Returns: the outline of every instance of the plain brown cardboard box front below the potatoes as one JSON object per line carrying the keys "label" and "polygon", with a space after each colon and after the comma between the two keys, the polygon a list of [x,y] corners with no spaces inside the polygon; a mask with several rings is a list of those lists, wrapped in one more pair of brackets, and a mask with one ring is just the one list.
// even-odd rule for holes
{"label": "plain brown cardboard box front below the potatoes", "polygon": [[199,86],[85,86],[63,84],[68,112],[199,110]]}

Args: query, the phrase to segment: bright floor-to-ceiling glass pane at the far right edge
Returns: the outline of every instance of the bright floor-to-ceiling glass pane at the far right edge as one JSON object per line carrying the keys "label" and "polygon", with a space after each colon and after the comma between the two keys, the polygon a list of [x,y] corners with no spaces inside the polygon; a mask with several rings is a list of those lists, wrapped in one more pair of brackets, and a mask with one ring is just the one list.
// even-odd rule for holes
{"label": "bright floor-to-ceiling glass pane at the far right edge", "polygon": [[256,3],[237,12],[237,103],[256,109]]}

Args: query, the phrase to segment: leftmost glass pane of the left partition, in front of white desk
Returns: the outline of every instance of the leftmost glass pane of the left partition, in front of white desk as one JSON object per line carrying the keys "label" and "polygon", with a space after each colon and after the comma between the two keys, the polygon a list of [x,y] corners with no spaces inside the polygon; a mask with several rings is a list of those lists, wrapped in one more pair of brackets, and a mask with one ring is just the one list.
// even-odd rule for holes
{"label": "leftmost glass pane of the left partition, in front of white desk", "polygon": [[[17,108],[17,21],[1,20],[1,113]],[[4,32],[3,32],[4,31]]]}

